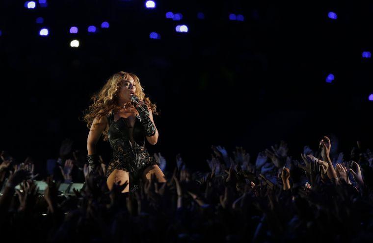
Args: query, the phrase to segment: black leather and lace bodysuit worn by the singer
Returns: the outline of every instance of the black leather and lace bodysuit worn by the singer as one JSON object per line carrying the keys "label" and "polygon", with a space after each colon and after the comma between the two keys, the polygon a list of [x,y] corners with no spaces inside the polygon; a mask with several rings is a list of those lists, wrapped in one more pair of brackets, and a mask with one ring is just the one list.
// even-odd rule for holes
{"label": "black leather and lace bodysuit worn by the singer", "polygon": [[[114,112],[107,116],[107,120],[109,122],[107,135],[113,152],[113,159],[107,167],[107,176],[114,169],[132,172],[148,165],[158,164],[145,147],[146,137],[139,116],[135,117],[133,127],[127,118],[121,117],[114,121]],[[134,144],[130,139],[130,130],[133,131]]]}

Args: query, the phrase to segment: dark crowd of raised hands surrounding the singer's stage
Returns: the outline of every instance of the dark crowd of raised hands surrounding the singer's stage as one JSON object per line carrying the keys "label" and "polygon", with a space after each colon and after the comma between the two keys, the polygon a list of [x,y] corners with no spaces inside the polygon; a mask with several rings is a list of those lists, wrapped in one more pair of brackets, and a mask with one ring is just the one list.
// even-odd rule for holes
{"label": "dark crowd of raised hands surrounding the singer's stage", "polygon": [[[212,146],[209,171],[191,171],[180,156],[160,162],[134,192],[107,188],[106,163],[90,170],[83,151],[64,141],[53,174],[1,153],[3,239],[35,242],[371,242],[373,153],[359,143],[330,154],[328,137],[290,156],[287,143],[255,159],[242,147]],[[296,155],[298,154],[298,155]],[[167,165],[167,168],[166,168]],[[168,168],[175,168],[168,170]],[[47,183],[40,193],[35,180]],[[74,195],[61,183],[84,182]]]}

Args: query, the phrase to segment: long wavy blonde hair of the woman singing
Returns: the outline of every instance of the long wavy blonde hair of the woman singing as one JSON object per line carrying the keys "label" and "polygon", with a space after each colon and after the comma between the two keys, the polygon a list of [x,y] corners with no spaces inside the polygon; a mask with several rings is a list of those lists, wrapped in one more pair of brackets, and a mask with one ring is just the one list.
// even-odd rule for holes
{"label": "long wavy blonde hair of the woman singing", "polygon": [[[90,127],[93,123],[93,120],[97,117],[100,119],[102,116],[106,116],[110,114],[112,111],[117,112],[122,107],[118,106],[118,93],[120,91],[120,85],[122,81],[128,80],[128,77],[131,76],[134,80],[134,83],[136,85],[136,92],[135,96],[139,97],[139,99],[142,99],[148,108],[152,110],[152,114],[158,115],[157,112],[157,105],[153,104],[149,97],[145,97],[145,94],[143,92],[143,88],[140,84],[140,79],[133,73],[126,73],[126,72],[118,72],[114,73],[106,82],[104,87],[101,88],[101,90],[98,93],[95,93],[92,95],[91,100],[93,103],[89,106],[88,109],[86,109],[83,114],[83,121],[87,122],[87,127],[90,130]],[[126,102],[124,104],[124,108],[135,108],[133,103]],[[97,124],[95,124],[97,125]],[[94,126],[95,126],[94,125]],[[104,134],[104,141],[107,141],[107,131],[103,131]]]}

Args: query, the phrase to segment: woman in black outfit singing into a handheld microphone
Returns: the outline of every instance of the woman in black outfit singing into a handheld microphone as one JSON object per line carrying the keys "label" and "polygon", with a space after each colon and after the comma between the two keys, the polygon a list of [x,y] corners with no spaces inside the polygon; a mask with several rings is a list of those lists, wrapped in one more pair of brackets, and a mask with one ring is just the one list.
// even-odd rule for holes
{"label": "woman in black outfit singing into a handheld microphone", "polygon": [[84,116],[90,127],[87,160],[90,167],[97,170],[100,162],[96,143],[103,134],[113,153],[106,170],[109,190],[120,181],[120,185],[129,183],[122,193],[133,192],[138,188],[140,177],[145,181],[152,174],[158,182],[166,182],[160,164],[145,147],[145,138],[151,145],[157,143],[159,133],[153,113],[158,113],[157,106],[145,97],[139,78],[133,73],[115,73],[91,100],[93,104]]}

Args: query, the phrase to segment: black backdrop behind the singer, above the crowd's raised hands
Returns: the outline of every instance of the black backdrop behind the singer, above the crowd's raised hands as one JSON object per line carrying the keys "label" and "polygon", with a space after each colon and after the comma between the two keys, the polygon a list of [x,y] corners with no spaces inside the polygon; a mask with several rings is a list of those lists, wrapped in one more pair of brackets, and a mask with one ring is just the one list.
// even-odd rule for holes
{"label": "black backdrop behind the singer, above the crowd's raised hands", "polygon": [[[58,156],[65,138],[86,149],[89,130],[79,118],[118,71],[138,75],[158,105],[159,140],[147,147],[161,152],[168,168],[181,153],[191,168],[207,169],[211,145],[230,153],[243,146],[254,161],[280,140],[293,156],[305,145],[316,149],[323,135],[345,154],[357,140],[372,145],[372,59],[362,58],[373,51],[372,3],[167,0],[155,9],[144,3],[62,0],[27,9],[22,1],[1,1],[0,149],[40,165]],[[166,19],[168,11],[183,19]],[[329,11],[338,19],[329,19]],[[244,21],[230,21],[230,13]],[[178,24],[188,32],[176,32]],[[98,32],[88,33],[88,25]],[[71,26],[79,33],[70,34]],[[49,36],[39,36],[42,27]],[[152,31],[161,39],[150,39]],[[77,49],[70,47],[74,39]],[[325,82],[329,73],[332,83]],[[108,143],[98,146],[109,159]]]}

